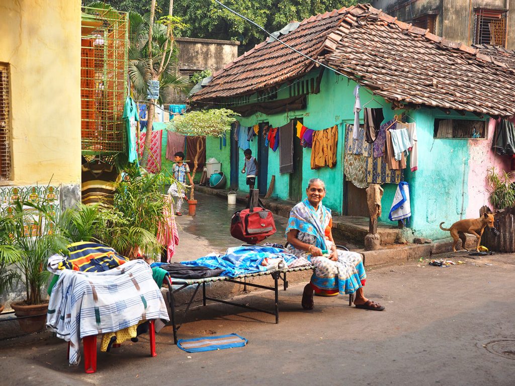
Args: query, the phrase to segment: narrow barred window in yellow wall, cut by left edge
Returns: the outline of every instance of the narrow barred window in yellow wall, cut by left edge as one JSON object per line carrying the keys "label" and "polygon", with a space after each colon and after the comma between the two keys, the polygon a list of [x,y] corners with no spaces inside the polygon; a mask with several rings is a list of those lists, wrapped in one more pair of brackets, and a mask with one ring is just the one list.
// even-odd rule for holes
{"label": "narrow barred window in yellow wall, cut by left edge", "polygon": [[0,63],[0,181],[11,179],[9,66]]}

